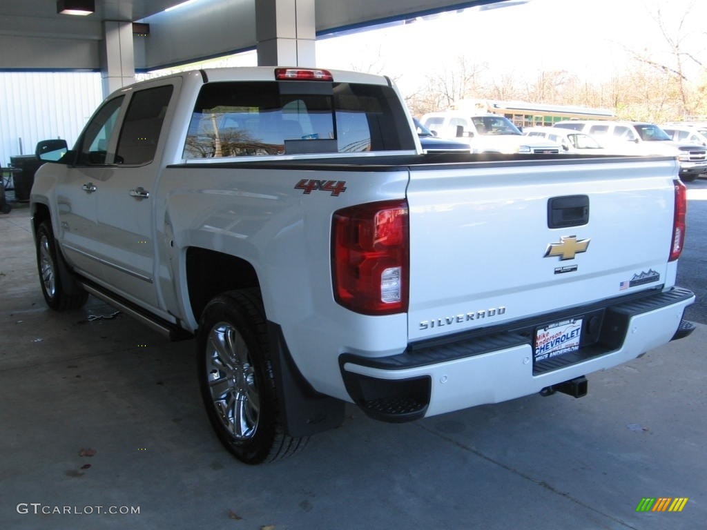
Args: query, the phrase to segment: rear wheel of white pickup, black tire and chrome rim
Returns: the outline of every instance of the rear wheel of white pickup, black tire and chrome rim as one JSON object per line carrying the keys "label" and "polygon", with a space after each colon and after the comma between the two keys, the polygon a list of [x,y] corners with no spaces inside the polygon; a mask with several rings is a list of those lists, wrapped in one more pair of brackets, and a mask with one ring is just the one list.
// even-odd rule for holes
{"label": "rear wheel of white pickup, black tire and chrome rim", "polygon": [[211,425],[240,461],[274,461],[306,445],[307,438],[284,432],[257,289],[223,293],[206,305],[199,322],[197,367]]}

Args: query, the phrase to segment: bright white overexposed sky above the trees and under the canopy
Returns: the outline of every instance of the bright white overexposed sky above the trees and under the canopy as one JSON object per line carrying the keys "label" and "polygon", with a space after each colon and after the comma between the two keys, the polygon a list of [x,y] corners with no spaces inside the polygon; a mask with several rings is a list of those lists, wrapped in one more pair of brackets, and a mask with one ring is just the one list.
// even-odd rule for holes
{"label": "bright white overexposed sky above the trees and under the canopy", "polygon": [[[649,50],[665,61],[659,11],[668,33],[681,37],[682,47],[707,66],[707,0],[518,1],[320,37],[315,66],[385,74],[404,96],[430,73],[454,68],[462,55],[487,64],[489,75],[498,78],[532,81],[539,71],[564,70],[601,82],[626,69],[629,50]],[[209,64],[253,66],[257,58],[248,52]],[[696,76],[696,63],[688,64]]]}

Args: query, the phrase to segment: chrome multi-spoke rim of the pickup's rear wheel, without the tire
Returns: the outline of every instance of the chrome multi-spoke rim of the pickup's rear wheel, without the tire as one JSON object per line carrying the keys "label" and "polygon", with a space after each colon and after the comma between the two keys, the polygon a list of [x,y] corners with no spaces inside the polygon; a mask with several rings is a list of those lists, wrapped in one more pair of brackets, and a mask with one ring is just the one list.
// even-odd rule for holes
{"label": "chrome multi-spoke rim of the pickup's rear wheel, without the tire", "polygon": [[238,330],[218,322],[206,341],[206,379],[211,403],[236,440],[250,440],[258,427],[260,396],[248,347]]}

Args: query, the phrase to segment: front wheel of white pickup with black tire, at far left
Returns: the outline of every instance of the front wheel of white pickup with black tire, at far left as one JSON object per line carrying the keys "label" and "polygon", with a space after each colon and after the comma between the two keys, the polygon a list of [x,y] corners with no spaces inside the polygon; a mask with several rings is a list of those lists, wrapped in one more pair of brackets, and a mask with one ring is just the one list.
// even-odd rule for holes
{"label": "front wheel of white pickup with black tire, at far left", "polygon": [[88,293],[78,285],[64,285],[64,279],[71,281],[65,274],[62,277],[60,267],[66,270],[63,257],[54,240],[52,224],[44,220],[37,228],[37,270],[40,275],[42,295],[47,305],[57,311],[71,311],[82,307],[88,300]]}

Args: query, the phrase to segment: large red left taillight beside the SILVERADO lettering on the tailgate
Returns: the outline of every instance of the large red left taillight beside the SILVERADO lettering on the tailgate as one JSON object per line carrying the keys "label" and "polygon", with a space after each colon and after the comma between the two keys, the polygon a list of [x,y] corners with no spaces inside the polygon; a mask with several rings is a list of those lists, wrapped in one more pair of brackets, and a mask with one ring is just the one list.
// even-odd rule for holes
{"label": "large red left taillight beside the SILVERADO lettering on the tailgate", "polygon": [[363,314],[407,311],[407,201],[351,206],[332,218],[334,299]]}

